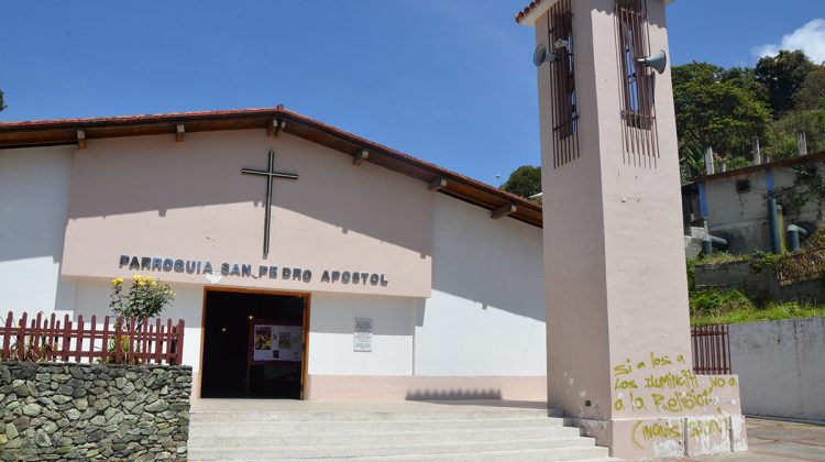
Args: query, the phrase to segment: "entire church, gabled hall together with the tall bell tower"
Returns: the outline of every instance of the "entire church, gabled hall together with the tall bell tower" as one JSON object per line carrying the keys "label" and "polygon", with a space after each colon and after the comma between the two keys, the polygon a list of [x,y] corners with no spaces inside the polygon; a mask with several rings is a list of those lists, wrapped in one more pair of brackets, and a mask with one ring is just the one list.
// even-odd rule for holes
{"label": "entire church, gabled hall together with the tall bell tower", "polygon": [[547,213],[283,107],[0,123],[0,309],[158,276],[195,397],[541,400],[614,457],[747,450],[738,377],[693,371],[668,3],[516,15]]}

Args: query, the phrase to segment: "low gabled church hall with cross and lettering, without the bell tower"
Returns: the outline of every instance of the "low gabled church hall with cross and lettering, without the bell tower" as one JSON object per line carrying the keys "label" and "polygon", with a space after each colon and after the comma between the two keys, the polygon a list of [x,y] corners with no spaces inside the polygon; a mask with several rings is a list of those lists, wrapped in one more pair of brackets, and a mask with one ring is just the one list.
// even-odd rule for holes
{"label": "low gabled church hall with cross and lettering, without the bell tower", "polygon": [[541,206],[278,106],[0,124],[3,316],[153,276],[195,397],[546,398]]}

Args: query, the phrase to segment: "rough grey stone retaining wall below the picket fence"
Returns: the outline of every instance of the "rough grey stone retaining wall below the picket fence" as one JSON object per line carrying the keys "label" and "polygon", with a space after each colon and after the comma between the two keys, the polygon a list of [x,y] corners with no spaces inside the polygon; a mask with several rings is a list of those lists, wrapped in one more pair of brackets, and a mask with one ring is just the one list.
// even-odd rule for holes
{"label": "rough grey stone retaining wall below the picket fence", "polygon": [[191,367],[0,363],[0,460],[186,460]]}

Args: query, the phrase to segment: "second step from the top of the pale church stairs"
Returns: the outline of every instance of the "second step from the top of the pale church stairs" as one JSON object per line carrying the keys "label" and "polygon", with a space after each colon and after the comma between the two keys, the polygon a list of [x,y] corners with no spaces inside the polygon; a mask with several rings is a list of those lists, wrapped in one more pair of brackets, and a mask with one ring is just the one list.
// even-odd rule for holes
{"label": "second step from the top of the pale church stairs", "polygon": [[[561,428],[564,420],[557,417],[538,419],[442,419],[442,420],[349,420],[349,421],[212,421],[193,415],[189,429],[197,435],[249,435],[261,429],[280,432],[352,432],[352,431],[417,431],[417,430],[462,430],[462,429],[509,429],[509,428]],[[272,432],[272,431],[270,431]]]}

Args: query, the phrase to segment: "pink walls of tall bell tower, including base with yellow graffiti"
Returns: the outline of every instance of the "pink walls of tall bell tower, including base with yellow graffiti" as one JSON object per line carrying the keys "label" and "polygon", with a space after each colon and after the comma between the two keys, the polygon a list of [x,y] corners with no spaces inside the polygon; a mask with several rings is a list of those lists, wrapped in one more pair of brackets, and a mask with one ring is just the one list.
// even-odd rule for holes
{"label": "pink walls of tall bell tower, including base with yellow graffiti", "polygon": [[[623,150],[616,1],[571,4],[580,157],[560,167],[550,138],[552,65],[538,68],[549,402],[619,458],[740,450],[744,430],[733,443],[685,447],[675,433],[634,441],[657,419],[733,427],[741,418],[738,380],[714,385],[692,373],[670,66],[654,77],[659,156],[634,162]],[[664,4],[647,7],[651,53],[668,52]],[[536,23],[538,43],[548,42],[546,21],[544,13]]]}

